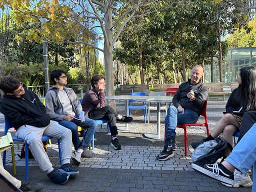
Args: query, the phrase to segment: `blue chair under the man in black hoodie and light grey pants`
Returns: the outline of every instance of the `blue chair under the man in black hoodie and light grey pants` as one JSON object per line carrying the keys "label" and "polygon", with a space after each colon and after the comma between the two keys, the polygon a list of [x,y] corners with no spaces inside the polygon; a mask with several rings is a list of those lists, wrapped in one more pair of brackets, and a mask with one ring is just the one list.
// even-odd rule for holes
{"label": "blue chair under the man in black hoodie and light grey pants", "polygon": [[[12,128],[12,124],[10,121],[8,121],[8,119],[6,117],[4,117],[5,120],[5,125],[4,125],[4,135],[7,134],[7,131],[9,128]],[[42,135],[42,141],[46,141],[51,139],[51,136],[46,136],[46,135]],[[24,142],[23,139],[12,136],[12,140],[13,141],[19,141],[19,142]],[[14,153],[14,150],[11,152]],[[62,164],[62,160],[61,160],[61,147],[60,147],[60,140],[58,139],[58,153],[59,153],[59,163]],[[13,154],[14,155],[14,154]],[[6,161],[6,150],[3,151],[3,158],[2,158],[2,163],[3,163],[3,167],[5,167],[5,161]],[[13,165],[14,164],[14,165]],[[12,159],[12,167],[15,166],[15,161]],[[13,168],[13,174],[16,174],[15,171],[16,168]],[[28,180],[28,144],[27,142],[25,142],[25,179]]]}

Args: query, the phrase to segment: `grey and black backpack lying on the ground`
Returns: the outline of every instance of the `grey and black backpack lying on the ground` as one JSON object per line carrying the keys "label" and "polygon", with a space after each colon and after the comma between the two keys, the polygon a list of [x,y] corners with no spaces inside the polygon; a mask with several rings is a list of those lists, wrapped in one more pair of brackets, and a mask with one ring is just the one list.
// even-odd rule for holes
{"label": "grey and black backpack lying on the ground", "polygon": [[221,136],[205,141],[192,152],[192,162],[200,165],[215,163],[218,158],[223,156],[226,147],[230,151],[232,150],[232,146]]}

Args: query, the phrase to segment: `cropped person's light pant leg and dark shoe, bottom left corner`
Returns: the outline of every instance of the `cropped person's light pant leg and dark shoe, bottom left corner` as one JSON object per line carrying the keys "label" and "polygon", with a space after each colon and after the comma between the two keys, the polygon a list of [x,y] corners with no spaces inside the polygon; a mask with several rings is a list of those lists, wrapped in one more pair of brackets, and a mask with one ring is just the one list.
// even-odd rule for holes
{"label": "cropped person's light pant leg and dark shoe, bottom left corner", "polygon": [[[0,137],[1,139],[1,137]],[[40,191],[43,187],[42,183],[27,183],[24,184],[20,180],[12,176],[7,170],[3,168],[2,157],[0,154],[0,174],[2,174],[10,183],[19,188],[22,191]]]}

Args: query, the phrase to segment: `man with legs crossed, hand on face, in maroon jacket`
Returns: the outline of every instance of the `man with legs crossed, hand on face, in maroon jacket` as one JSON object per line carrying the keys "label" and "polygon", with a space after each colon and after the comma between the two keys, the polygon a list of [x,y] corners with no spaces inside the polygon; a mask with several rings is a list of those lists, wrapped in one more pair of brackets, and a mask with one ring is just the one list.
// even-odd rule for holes
{"label": "man with legs crossed, hand on face, in maroon jacket", "polygon": [[110,146],[114,149],[121,149],[121,145],[116,137],[118,133],[115,118],[117,121],[130,122],[132,117],[122,116],[114,111],[111,106],[106,105],[104,93],[105,81],[102,75],[93,75],[91,77],[91,86],[92,89],[87,91],[82,98],[82,110],[85,116],[89,118],[107,120],[111,132]]}

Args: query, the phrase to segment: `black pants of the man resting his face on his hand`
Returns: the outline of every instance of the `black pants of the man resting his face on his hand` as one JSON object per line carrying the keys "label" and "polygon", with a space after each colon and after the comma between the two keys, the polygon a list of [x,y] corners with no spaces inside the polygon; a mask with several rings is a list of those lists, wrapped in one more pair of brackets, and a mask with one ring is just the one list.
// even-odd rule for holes
{"label": "black pants of the man resting his face on his hand", "polygon": [[111,106],[106,105],[102,108],[92,109],[88,116],[94,120],[107,120],[111,135],[118,134],[115,124],[115,117],[118,116],[118,113]]}

